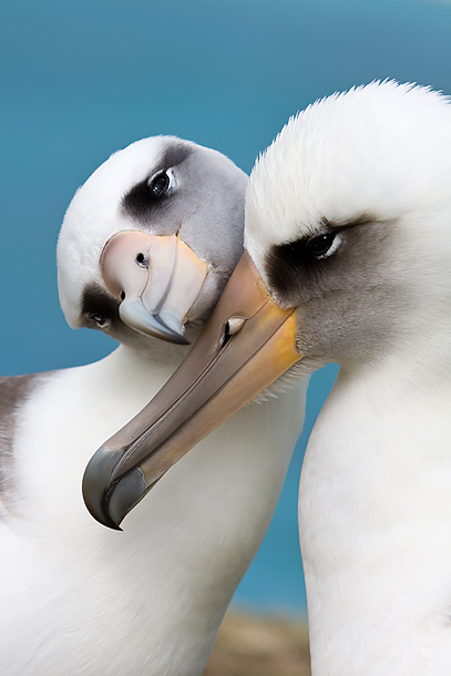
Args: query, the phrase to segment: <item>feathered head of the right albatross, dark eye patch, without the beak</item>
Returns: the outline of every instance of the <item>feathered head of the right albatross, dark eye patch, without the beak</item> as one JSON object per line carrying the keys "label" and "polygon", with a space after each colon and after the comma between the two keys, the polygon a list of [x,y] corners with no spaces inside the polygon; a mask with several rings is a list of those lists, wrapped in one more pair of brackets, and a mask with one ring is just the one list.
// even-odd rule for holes
{"label": "feathered head of the right albatross, dark eye patch, without the beak", "polygon": [[257,161],[245,248],[297,308],[304,363],[430,349],[450,304],[450,151],[448,98],[387,81],[308,106]]}

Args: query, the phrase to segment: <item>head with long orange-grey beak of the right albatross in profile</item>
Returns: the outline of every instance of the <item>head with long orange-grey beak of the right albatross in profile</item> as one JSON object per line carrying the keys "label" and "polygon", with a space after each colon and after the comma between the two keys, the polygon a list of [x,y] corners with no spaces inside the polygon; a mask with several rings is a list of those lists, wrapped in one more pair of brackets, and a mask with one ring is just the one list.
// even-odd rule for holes
{"label": "head with long orange-grey beak of the right albatross in profile", "polygon": [[448,100],[393,82],[330,96],[288,123],[254,168],[247,250],[204,334],[86,469],[100,521],[119,525],[291,367],[366,369],[428,352],[434,314],[450,303],[450,147]]}

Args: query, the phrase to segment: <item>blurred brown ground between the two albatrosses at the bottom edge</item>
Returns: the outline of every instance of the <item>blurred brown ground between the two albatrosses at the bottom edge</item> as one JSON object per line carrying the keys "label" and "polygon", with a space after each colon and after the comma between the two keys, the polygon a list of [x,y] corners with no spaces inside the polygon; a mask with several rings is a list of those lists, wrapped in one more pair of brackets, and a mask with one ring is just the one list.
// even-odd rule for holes
{"label": "blurred brown ground between the two albatrosses at the bottom edge", "polygon": [[227,613],[204,676],[310,676],[307,625]]}

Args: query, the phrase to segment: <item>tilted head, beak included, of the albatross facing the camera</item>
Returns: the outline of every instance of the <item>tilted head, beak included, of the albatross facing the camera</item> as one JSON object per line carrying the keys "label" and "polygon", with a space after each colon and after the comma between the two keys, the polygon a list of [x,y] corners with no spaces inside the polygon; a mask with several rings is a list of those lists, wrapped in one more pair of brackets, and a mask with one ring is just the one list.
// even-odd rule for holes
{"label": "tilted head, beak included, of the albatross facing the camera", "polygon": [[174,136],[114,153],[79,188],[58,243],[60,301],[72,328],[121,342],[187,342],[243,252],[247,176]]}

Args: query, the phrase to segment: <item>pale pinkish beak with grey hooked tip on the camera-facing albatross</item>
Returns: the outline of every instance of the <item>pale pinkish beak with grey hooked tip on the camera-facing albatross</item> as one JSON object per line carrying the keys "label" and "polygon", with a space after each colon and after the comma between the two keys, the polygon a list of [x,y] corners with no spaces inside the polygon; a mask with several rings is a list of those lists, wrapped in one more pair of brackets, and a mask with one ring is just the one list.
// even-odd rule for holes
{"label": "pale pinkish beak with grey hooked tip on the camera-facing albatross", "polygon": [[100,268],[107,289],[121,300],[119,315],[132,329],[187,345],[186,315],[197,298],[208,265],[176,235],[136,231],[113,235]]}

